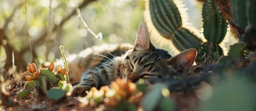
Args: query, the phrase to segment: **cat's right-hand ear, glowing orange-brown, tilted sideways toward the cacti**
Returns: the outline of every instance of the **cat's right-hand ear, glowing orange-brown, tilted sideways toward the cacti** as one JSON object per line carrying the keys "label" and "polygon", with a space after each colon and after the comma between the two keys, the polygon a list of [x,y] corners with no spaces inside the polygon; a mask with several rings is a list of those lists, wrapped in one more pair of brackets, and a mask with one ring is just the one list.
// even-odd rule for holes
{"label": "cat's right-hand ear, glowing orange-brown, tilted sideways toward the cacti", "polygon": [[196,49],[187,49],[177,56],[170,58],[168,60],[168,67],[174,72],[184,73],[193,65],[196,53]]}

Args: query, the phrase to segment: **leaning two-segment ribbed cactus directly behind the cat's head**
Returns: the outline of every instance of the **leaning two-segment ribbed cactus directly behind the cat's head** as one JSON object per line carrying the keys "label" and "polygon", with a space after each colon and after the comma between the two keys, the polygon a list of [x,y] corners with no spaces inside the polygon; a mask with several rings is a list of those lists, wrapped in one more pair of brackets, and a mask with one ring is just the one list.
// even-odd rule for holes
{"label": "leaning two-segment ribbed cactus directly behind the cat's head", "polygon": [[149,9],[156,30],[162,37],[172,40],[178,50],[200,48],[201,39],[182,28],[180,12],[173,0],[149,0]]}

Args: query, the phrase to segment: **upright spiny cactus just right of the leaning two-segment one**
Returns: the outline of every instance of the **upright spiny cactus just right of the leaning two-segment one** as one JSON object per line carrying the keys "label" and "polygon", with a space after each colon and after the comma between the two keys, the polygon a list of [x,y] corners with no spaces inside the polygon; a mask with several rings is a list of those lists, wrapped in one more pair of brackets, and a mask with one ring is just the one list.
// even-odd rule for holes
{"label": "upright spiny cactus just right of the leaning two-segment one", "polygon": [[[214,52],[218,52],[219,55],[222,55],[223,50],[219,44],[223,41],[227,33],[228,22],[223,19],[222,12],[214,0],[207,0],[203,4],[202,17],[203,34],[208,42],[202,45],[201,54],[206,52],[206,54],[210,55],[212,58]],[[199,57],[201,56],[199,55]]]}

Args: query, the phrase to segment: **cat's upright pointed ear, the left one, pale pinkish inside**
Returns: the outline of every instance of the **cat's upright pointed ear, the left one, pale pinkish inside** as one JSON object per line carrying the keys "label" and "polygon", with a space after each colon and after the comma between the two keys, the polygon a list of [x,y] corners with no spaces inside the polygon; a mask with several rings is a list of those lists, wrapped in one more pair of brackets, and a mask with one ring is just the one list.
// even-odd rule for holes
{"label": "cat's upright pointed ear, the left one, pale pinkish inside", "polygon": [[145,24],[145,22],[141,22],[138,29],[137,40],[134,44],[133,50],[137,51],[148,49],[155,49],[155,47],[150,42],[147,25]]}

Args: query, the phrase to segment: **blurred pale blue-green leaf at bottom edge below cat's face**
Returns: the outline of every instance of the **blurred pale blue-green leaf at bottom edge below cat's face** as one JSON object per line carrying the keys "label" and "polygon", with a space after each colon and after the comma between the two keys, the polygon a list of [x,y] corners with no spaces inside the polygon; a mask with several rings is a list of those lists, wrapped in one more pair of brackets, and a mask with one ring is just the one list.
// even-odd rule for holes
{"label": "blurred pale blue-green leaf at bottom edge below cat's face", "polygon": [[142,99],[142,107],[145,111],[153,111],[156,108],[163,97],[161,93],[163,87],[162,84],[156,84],[150,92],[146,93]]}

